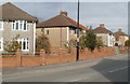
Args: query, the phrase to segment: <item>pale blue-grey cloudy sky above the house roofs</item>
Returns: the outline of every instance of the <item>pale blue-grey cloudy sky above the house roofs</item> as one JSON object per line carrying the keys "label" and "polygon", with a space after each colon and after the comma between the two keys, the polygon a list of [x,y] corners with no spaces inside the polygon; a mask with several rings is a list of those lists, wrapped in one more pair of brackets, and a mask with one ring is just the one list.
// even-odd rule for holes
{"label": "pale blue-grey cloudy sky above the house roofs", "polygon": [[[102,1],[102,0],[101,0]],[[68,17],[77,20],[77,2],[13,2],[16,6],[39,18],[47,20],[66,11]],[[100,24],[113,32],[121,28],[128,33],[128,2],[80,2],[80,24],[92,26]]]}

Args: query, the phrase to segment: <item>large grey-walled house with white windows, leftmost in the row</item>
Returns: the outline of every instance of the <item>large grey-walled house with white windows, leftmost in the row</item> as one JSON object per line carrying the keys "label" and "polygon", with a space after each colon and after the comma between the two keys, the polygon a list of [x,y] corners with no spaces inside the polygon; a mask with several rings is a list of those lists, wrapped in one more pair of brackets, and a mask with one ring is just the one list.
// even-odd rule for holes
{"label": "large grey-walled house with white windows, leftmost in the row", "polygon": [[4,42],[20,34],[22,52],[35,52],[36,17],[8,2],[0,6],[0,52],[4,52]]}

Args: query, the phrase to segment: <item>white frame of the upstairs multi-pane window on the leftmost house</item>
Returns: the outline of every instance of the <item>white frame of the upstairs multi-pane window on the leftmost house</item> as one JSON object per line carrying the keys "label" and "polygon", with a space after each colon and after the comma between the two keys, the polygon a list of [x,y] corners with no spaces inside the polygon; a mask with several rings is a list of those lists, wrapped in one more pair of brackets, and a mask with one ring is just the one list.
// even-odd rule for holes
{"label": "white frame of the upstairs multi-pane window on the leftmost house", "polygon": [[[16,23],[18,23],[18,29],[16,29]],[[26,29],[24,29],[24,24],[26,24]],[[29,24],[27,20],[14,20],[12,23],[12,30],[23,30],[28,31]]]}

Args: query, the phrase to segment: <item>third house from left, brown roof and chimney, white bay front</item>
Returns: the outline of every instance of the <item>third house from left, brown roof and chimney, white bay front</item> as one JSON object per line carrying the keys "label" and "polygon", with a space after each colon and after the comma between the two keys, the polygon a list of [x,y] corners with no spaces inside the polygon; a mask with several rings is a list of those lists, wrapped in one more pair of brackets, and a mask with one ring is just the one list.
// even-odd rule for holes
{"label": "third house from left, brown roof and chimney, white bay front", "polygon": [[101,39],[106,46],[115,45],[114,33],[104,27],[104,24],[100,24],[100,27],[93,30],[99,39]]}

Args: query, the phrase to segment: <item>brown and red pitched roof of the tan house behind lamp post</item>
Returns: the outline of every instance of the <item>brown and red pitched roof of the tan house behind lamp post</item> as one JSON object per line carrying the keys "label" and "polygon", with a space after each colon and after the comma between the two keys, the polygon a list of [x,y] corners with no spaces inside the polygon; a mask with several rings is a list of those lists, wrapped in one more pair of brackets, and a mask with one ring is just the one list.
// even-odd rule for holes
{"label": "brown and red pitched roof of the tan house behind lamp post", "polygon": [[[48,20],[37,24],[37,28],[46,28],[46,27],[75,27],[77,28],[77,22],[65,16],[65,15],[57,15],[52,17]],[[79,25],[81,29],[88,30],[87,27]]]}

